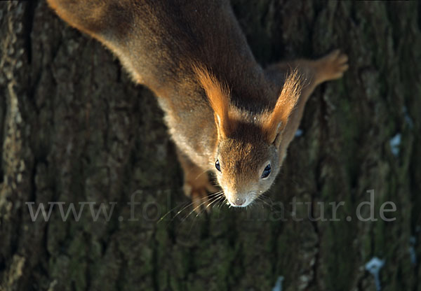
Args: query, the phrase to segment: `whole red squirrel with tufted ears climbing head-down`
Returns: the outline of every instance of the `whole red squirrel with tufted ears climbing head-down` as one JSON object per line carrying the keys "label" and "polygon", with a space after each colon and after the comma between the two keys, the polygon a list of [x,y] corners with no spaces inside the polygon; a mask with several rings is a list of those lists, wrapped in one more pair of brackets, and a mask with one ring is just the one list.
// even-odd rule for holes
{"label": "whole red squirrel with tufted ears climbing head-down", "polygon": [[262,69],[228,0],[47,1],[154,92],[198,212],[218,191],[209,171],[232,206],[269,190],[310,94],[348,69],[339,50]]}

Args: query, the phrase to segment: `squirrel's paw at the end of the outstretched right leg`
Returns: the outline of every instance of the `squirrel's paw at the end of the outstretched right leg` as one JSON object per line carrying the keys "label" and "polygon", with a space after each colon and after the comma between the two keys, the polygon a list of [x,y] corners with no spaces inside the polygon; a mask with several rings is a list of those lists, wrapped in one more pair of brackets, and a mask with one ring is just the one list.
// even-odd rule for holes
{"label": "squirrel's paw at the end of the outstretched right leg", "polygon": [[322,73],[322,81],[335,80],[341,78],[349,65],[348,56],[340,50],[333,50],[329,55],[319,59],[319,68]]}

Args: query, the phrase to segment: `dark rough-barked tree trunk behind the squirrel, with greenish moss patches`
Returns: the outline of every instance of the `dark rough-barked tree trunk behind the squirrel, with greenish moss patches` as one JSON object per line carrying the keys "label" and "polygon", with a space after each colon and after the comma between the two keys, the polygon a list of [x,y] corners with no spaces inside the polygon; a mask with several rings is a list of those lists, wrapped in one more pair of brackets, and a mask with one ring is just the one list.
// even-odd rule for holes
{"label": "dark rough-barked tree trunk behind the squirrel, with greenish moss patches", "polygon": [[45,1],[0,2],[0,290],[376,290],[373,257],[382,290],[421,290],[421,4],[232,4],[260,63],[350,67],[265,201],[196,216],[153,94]]}

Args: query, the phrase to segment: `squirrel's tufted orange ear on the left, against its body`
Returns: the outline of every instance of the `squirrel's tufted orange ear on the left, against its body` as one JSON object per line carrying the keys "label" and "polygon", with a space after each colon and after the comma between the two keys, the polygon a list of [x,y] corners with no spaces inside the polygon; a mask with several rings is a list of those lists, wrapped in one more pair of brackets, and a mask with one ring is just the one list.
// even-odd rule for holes
{"label": "squirrel's tufted orange ear on the left, against its body", "polygon": [[193,66],[199,83],[206,92],[210,107],[215,113],[215,123],[218,128],[218,138],[226,138],[232,132],[234,124],[229,115],[229,89],[220,83],[215,76],[201,66]]}

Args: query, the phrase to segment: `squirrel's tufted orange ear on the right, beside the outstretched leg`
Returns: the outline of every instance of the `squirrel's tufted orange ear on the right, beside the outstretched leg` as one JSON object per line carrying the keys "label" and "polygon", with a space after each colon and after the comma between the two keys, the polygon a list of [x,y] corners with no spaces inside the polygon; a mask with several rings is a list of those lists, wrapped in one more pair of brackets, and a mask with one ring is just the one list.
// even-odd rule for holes
{"label": "squirrel's tufted orange ear on the right, beside the outstretched leg", "polygon": [[276,136],[279,136],[285,129],[286,122],[290,114],[293,112],[298,98],[301,94],[301,80],[298,71],[288,74],[283,84],[281,94],[279,94],[274,110],[269,113],[263,124],[263,132],[269,143],[274,143]]}

